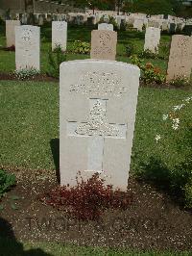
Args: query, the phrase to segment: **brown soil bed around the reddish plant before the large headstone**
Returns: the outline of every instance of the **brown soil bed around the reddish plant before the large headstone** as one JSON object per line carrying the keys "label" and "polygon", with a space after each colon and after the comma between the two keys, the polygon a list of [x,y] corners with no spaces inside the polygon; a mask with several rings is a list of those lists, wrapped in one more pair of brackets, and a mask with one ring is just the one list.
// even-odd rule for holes
{"label": "brown soil bed around the reddish plant before the large headstone", "polygon": [[[17,185],[3,198],[0,227],[5,234],[8,221],[19,241],[192,249],[192,213],[180,209],[168,195],[146,183],[130,178],[133,202],[127,210],[108,210],[99,221],[84,222],[39,201],[39,195],[58,185],[55,171],[12,171],[16,174]],[[12,195],[20,197],[15,201],[18,210],[12,210],[9,199]]]}

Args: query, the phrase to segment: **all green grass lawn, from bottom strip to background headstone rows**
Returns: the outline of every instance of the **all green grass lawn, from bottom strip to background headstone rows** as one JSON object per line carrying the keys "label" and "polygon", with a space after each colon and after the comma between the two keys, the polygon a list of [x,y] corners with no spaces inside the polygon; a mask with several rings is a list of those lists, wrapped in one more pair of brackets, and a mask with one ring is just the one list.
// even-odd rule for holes
{"label": "all green grass lawn, from bottom strip to background headstone rows", "polygon": [[[74,40],[90,42],[90,27],[69,27],[68,47]],[[132,43],[135,53],[142,51],[144,33],[118,32],[117,61],[130,63],[125,56],[125,45]],[[5,46],[5,27],[0,26],[0,45]],[[162,36],[159,54],[170,43],[170,36]],[[47,70],[48,50],[51,47],[51,27],[41,28],[41,70]],[[67,54],[67,60],[87,59],[88,55]],[[145,60],[158,65],[164,71],[167,60]],[[14,52],[0,49],[0,71],[14,70]],[[132,147],[132,173],[141,162],[156,156],[156,134],[159,132],[162,115],[177,105],[192,90],[166,90],[140,88]],[[51,141],[59,138],[59,83],[0,81],[0,164],[30,169],[55,169]],[[188,115],[192,115],[189,110]],[[180,162],[180,155],[162,153],[169,165]],[[61,243],[19,243],[0,238],[0,255],[132,255],[172,256],[191,255],[191,252],[138,252],[121,249],[78,247]],[[44,251],[44,253],[43,253]],[[45,254],[47,253],[47,254]]]}

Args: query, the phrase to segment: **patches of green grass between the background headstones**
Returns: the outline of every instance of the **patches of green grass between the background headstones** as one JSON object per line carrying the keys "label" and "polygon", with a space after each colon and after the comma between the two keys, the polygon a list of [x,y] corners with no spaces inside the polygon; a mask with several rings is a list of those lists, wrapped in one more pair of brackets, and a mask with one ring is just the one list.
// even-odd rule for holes
{"label": "patches of green grass between the background headstones", "polygon": [[[83,40],[86,42],[90,42],[91,40],[91,30],[97,29],[96,27],[88,27],[88,26],[80,26],[80,27],[68,27],[68,35],[67,35],[67,48],[70,49],[72,43],[75,40]],[[47,71],[48,65],[48,51],[51,48],[51,24],[46,27],[40,28],[40,66],[41,72],[45,73]],[[170,36],[161,36],[160,39],[160,47],[159,54],[165,55],[164,51],[167,49],[167,45],[170,42]],[[116,60],[130,63],[131,60],[126,56],[126,45],[132,43],[133,45],[133,53],[137,54],[143,50],[145,40],[144,32],[135,32],[135,31],[118,31],[118,43],[117,43],[117,56]],[[6,37],[5,37],[5,26],[0,26],[0,46],[6,46]],[[88,59],[89,55],[74,55],[71,53],[67,54],[67,61],[71,60],[81,60]],[[0,49],[0,71],[4,72],[12,72],[15,69],[15,60],[14,60],[14,52],[4,51]],[[145,63],[152,62],[153,64],[161,67],[164,71],[167,68],[167,60],[149,60],[145,59]]]}

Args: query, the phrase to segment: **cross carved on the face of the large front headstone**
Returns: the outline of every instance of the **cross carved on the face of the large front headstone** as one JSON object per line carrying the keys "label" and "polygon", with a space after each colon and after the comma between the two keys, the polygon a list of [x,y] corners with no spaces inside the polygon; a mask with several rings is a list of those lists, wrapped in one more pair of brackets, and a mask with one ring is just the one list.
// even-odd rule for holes
{"label": "cross carved on the face of the large front headstone", "polygon": [[89,99],[90,114],[87,122],[67,122],[67,136],[88,138],[87,169],[102,172],[105,153],[105,139],[126,139],[127,124],[108,123],[108,100]]}

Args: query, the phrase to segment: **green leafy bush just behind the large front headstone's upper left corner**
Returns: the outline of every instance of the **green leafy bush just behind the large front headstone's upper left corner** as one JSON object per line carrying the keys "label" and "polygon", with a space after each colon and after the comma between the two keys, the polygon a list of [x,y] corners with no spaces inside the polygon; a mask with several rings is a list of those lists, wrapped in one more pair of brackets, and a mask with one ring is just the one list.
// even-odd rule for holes
{"label": "green leafy bush just behind the large front headstone's upper left corner", "polygon": [[48,70],[49,76],[59,78],[60,77],[60,64],[66,62],[66,54],[62,51],[60,45],[58,45],[54,52],[49,51],[48,54]]}

